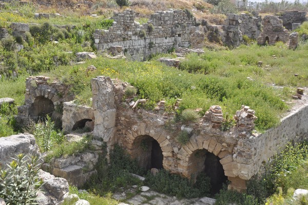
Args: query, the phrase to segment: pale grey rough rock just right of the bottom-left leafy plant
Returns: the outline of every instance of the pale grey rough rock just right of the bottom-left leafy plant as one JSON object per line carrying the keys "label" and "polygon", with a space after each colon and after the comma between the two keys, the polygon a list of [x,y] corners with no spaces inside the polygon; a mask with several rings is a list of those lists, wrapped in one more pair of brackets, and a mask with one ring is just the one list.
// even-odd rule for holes
{"label": "pale grey rough rock just right of the bottom-left leafy plant", "polygon": [[64,195],[68,193],[66,179],[55,177],[42,170],[38,172],[38,176],[44,181],[42,186],[44,192],[40,194],[43,197],[38,200],[38,204],[53,205],[64,200]]}

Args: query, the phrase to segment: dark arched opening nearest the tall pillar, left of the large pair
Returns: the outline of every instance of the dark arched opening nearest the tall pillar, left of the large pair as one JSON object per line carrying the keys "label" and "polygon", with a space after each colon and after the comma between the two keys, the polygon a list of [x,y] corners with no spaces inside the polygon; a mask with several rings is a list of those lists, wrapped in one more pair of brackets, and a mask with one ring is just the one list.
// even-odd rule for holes
{"label": "dark arched opening nearest the tall pillar, left of the large pair", "polygon": [[146,170],[152,168],[163,169],[163,152],[159,143],[149,135],[138,136],[131,149],[132,158],[136,158],[139,165]]}

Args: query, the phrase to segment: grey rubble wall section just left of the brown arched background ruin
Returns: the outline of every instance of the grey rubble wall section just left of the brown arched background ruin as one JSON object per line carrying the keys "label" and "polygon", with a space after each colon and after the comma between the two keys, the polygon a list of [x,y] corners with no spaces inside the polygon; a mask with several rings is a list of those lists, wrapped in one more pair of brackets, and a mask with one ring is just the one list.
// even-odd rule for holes
{"label": "grey rubble wall section just left of the brown arched background ruin", "polygon": [[241,13],[240,31],[250,39],[257,39],[261,33],[261,16],[254,17],[250,14]]}

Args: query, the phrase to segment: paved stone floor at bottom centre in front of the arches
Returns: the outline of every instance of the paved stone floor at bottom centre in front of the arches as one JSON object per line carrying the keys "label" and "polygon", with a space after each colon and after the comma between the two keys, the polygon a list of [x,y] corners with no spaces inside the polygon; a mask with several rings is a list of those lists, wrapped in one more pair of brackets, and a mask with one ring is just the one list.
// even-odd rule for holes
{"label": "paved stone floor at bottom centre in front of the arches", "polygon": [[140,192],[137,186],[113,194],[113,198],[122,201],[119,205],[214,205],[215,199],[203,197],[194,199],[178,199],[152,190]]}

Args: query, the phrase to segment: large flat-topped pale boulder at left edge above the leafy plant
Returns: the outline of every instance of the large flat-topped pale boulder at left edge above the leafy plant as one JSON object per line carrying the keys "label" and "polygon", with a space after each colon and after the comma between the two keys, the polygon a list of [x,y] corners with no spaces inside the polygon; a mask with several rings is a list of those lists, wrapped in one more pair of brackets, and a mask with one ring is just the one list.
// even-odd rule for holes
{"label": "large flat-topped pale boulder at left edge above the leafy plant", "polygon": [[33,135],[28,133],[0,138],[0,165],[5,166],[16,154],[40,155]]}

